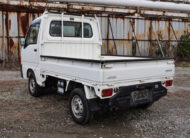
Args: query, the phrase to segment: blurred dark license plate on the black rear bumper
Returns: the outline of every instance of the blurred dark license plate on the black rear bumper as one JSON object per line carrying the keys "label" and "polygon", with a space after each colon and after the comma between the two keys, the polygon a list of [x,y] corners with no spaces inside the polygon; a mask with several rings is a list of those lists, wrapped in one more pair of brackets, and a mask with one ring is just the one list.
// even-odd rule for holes
{"label": "blurred dark license plate on the black rear bumper", "polygon": [[134,91],[131,93],[134,102],[149,99],[149,90]]}

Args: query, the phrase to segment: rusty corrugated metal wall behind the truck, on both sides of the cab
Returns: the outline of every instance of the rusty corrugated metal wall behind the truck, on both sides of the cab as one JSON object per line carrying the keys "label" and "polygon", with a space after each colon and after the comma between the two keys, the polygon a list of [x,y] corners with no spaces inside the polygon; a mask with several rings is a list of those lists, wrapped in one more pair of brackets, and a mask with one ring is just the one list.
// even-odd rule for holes
{"label": "rusty corrugated metal wall behind the truck, on both sides of the cab", "polygon": [[[26,35],[32,20],[41,14],[42,9],[34,11],[0,9],[0,60],[5,58],[6,62],[19,61],[19,39]],[[103,38],[102,54],[152,56],[154,55],[152,51],[158,47],[153,45],[157,43],[157,39],[161,39],[163,43],[169,44],[167,55],[172,56],[172,50],[180,36],[190,32],[190,22],[181,19],[142,16],[131,18],[112,14],[98,14],[98,19]],[[134,46],[135,38],[137,41]]]}

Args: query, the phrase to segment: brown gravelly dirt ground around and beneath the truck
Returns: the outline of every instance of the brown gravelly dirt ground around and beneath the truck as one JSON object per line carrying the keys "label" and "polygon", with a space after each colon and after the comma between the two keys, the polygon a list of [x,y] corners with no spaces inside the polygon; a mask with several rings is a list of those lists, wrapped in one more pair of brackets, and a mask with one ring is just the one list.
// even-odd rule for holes
{"label": "brown gravelly dirt ground around and beneath the truck", "polygon": [[72,121],[67,98],[33,98],[18,71],[0,71],[0,137],[190,137],[190,68],[176,68],[174,87],[149,109],[97,114],[85,126]]}

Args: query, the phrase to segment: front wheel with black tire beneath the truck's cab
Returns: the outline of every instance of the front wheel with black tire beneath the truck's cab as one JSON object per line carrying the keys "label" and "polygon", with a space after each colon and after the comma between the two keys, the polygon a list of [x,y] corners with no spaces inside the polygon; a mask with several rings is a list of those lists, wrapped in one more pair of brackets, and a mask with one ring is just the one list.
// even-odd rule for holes
{"label": "front wheel with black tire beneath the truck's cab", "polygon": [[34,73],[30,73],[28,79],[28,91],[33,97],[39,97],[41,95],[41,87],[36,82],[36,77]]}

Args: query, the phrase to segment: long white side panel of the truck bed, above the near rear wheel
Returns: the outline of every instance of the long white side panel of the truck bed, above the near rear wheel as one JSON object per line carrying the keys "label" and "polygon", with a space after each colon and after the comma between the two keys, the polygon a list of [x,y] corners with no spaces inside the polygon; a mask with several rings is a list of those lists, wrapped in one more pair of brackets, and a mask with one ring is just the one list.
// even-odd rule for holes
{"label": "long white side panel of the truck bed, above the near rear wheel", "polygon": [[41,74],[96,85],[100,83],[101,64],[93,61],[41,56]]}

